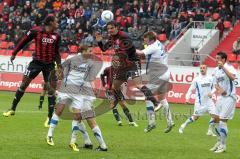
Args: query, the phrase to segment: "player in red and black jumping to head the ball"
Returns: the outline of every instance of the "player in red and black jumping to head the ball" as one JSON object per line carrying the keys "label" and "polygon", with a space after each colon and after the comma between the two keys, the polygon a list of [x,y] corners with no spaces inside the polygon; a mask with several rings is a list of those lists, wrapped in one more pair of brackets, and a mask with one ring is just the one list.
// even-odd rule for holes
{"label": "player in red and black jumping to head the ball", "polygon": [[119,30],[115,21],[107,24],[107,31],[110,37],[105,44],[103,44],[102,35],[99,33],[96,34],[96,41],[102,51],[114,49],[115,55],[118,55],[118,57],[112,58],[113,63],[119,64],[119,70],[114,75],[112,89],[120,90],[122,83],[131,77],[134,85],[144,93],[146,100],[150,100],[155,107],[159,107],[161,103],[157,101],[151,90],[142,84],[140,60],[131,38],[125,32]]}

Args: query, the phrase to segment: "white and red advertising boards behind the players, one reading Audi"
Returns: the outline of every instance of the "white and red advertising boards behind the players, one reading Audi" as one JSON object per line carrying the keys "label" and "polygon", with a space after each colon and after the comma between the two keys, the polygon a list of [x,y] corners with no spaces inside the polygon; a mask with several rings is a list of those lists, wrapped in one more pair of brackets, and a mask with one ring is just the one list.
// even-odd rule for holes
{"label": "white and red advertising boards behind the players, one reading Audi", "polygon": [[[27,64],[32,60],[30,57],[18,57],[14,60],[14,64],[9,61],[9,56],[1,56],[1,73],[0,73],[0,90],[16,91],[20,86],[22,80],[22,73],[24,72]],[[109,66],[109,63],[104,63],[103,69]],[[170,81],[173,83],[173,88],[168,92],[167,99],[172,103],[184,103],[186,92],[194,79],[199,73],[198,67],[187,67],[187,66],[169,66],[171,76]],[[208,68],[208,74],[213,73],[214,68]],[[16,73],[17,72],[17,73]],[[99,72],[99,74],[100,74]],[[142,71],[143,73],[145,70]],[[98,76],[99,77],[99,76]],[[237,107],[240,107],[240,86],[239,86],[239,74],[237,75],[235,84],[237,88],[238,100]],[[26,92],[42,91],[42,76],[38,76],[32,81]],[[99,78],[96,79],[95,88],[101,88]],[[136,89],[130,88],[127,92],[128,97],[143,100],[142,93],[136,91]],[[194,102],[194,94],[191,96],[191,102]]]}

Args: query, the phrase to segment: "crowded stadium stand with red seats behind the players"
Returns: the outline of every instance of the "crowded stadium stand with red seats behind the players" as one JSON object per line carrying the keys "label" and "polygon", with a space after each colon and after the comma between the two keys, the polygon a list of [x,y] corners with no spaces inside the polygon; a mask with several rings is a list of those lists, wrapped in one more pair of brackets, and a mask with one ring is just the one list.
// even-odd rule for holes
{"label": "crowded stadium stand with red seats behind the players", "polygon": [[[217,29],[223,34],[224,30],[231,31],[240,18],[240,2],[227,3],[223,0],[116,0],[114,3],[112,0],[2,0],[0,6],[0,43],[3,43],[0,46],[5,47],[5,41],[18,41],[22,33],[17,26],[25,32],[40,25],[47,14],[54,14],[59,19],[58,32],[62,36],[61,51],[64,53],[76,53],[77,48],[73,49],[72,46],[80,43],[96,44],[91,26],[105,9],[113,11],[120,27],[132,35],[138,48],[142,48],[142,35],[148,30],[154,30],[159,40],[170,48],[178,34],[192,20],[209,21],[212,18],[219,23]],[[233,29],[230,34],[236,30]],[[106,31],[102,32],[106,34]],[[225,39],[223,41],[228,41]],[[34,44],[25,50],[34,50]]]}

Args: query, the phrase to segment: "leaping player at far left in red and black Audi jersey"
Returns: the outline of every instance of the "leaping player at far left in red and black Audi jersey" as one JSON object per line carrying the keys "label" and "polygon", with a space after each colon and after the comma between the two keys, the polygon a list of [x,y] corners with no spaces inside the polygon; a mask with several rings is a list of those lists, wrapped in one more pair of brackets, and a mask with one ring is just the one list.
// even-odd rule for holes
{"label": "leaping player at far left in red and black Audi jersey", "polygon": [[[22,83],[16,91],[15,97],[12,102],[12,107],[3,115],[8,117],[15,114],[16,107],[24,95],[24,92],[31,81],[42,72],[44,82],[48,83],[49,74],[54,70],[55,62],[57,67],[61,69],[61,57],[59,54],[60,36],[54,31],[58,28],[57,20],[54,16],[47,16],[44,20],[44,25],[35,27],[29,30],[26,35],[22,37],[16,45],[12,56],[11,62],[16,58],[17,53],[26,46],[30,41],[35,40],[35,52],[33,53],[33,60],[26,69]],[[55,105],[54,88],[48,90],[48,118],[52,117]]]}

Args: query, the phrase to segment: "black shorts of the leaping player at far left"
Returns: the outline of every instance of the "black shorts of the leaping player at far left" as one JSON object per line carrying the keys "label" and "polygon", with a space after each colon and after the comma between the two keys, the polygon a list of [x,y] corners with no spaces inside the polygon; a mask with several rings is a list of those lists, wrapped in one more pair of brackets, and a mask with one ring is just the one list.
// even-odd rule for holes
{"label": "black shorts of the leaping player at far left", "polygon": [[31,79],[34,79],[40,72],[42,72],[44,82],[48,82],[50,72],[54,70],[54,67],[54,63],[46,64],[33,60],[29,63],[28,68],[24,72],[24,75]]}

